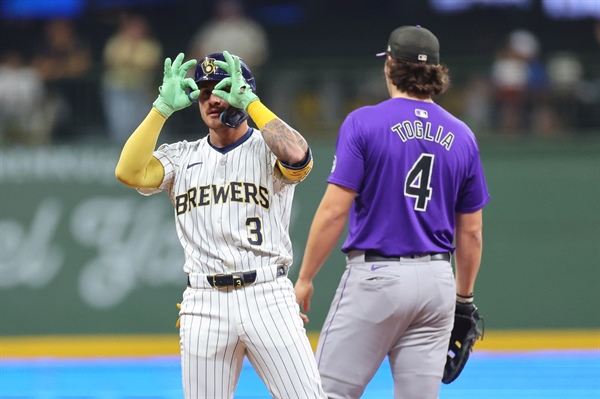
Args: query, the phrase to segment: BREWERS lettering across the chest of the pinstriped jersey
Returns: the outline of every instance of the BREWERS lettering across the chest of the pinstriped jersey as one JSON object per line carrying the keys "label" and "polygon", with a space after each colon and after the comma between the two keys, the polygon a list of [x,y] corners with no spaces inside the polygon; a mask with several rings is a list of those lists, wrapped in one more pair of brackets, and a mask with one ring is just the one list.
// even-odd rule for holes
{"label": "BREWERS lettering across the chest of the pinstriped jersey", "polygon": [[177,215],[182,215],[199,206],[226,202],[253,203],[269,209],[269,190],[247,182],[231,182],[226,186],[209,184],[192,187],[175,197],[175,210]]}

